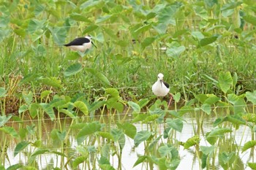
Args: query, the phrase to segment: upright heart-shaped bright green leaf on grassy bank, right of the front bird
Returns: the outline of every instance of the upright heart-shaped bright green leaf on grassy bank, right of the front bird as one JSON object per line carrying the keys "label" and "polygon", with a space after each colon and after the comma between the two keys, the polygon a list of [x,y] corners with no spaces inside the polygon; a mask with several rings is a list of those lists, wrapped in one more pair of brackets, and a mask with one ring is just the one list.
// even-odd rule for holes
{"label": "upright heart-shaped bright green leaf on grassy bank, right of the front bird", "polygon": [[233,85],[233,79],[230,72],[220,72],[219,73],[219,87],[224,93],[227,93],[227,90],[230,90],[230,87]]}

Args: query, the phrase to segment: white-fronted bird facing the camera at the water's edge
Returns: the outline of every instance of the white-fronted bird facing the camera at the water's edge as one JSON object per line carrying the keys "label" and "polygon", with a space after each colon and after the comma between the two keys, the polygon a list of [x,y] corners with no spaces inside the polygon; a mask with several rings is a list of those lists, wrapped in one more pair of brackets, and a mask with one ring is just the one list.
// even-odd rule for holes
{"label": "white-fronted bird facing the camera at the water's edge", "polygon": [[[163,78],[164,78],[164,74],[159,73],[157,75],[157,82],[155,82],[154,85],[152,85],[152,91],[154,95],[158,97],[166,96],[170,91],[169,85],[167,84],[167,82],[164,82]],[[170,94],[170,101],[169,101],[168,107],[170,105],[172,98],[173,96]]]}

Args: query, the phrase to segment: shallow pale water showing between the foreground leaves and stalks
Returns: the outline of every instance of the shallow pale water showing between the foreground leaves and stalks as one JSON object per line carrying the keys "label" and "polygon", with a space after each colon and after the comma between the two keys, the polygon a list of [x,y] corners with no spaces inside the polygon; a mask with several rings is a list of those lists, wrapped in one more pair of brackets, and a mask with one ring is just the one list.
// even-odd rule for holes
{"label": "shallow pale water showing between the foreground leaves and stalks", "polygon": [[[184,119],[187,121],[184,122],[184,127],[182,130],[182,133],[176,132],[176,139],[179,142],[186,142],[187,139],[189,139],[190,137],[194,136],[194,130],[193,127],[195,128],[196,122],[195,122],[195,118],[191,117],[190,115],[184,115]],[[206,117],[203,123],[203,132],[206,133],[208,131],[211,131],[213,127],[213,122],[214,122],[215,118],[214,117]],[[137,131],[141,131],[141,130],[147,130],[147,125],[141,125],[140,123],[136,123],[134,124],[137,128]],[[50,131],[53,128],[56,128],[56,124],[51,122],[51,121],[47,121],[45,122],[45,132],[42,135],[43,136],[43,145],[47,145],[47,141],[44,141],[44,138],[47,139],[47,136],[49,136]],[[69,128],[69,123],[66,123],[66,128]],[[158,128],[158,134],[163,134],[164,132],[164,125],[161,124],[159,125]],[[246,134],[246,135],[244,135]],[[75,136],[75,135],[74,135]],[[69,136],[69,141],[71,142],[70,146],[74,152],[76,150],[77,147],[77,142],[75,140],[74,136]],[[200,132],[200,146],[211,146],[211,144],[208,144],[208,142],[206,141],[206,139],[204,138],[202,131]],[[240,128],[236,131],[236,142],[238,144],[241,144],[241,146],[244,145],[245,142],[248,142],[249,140],[251,140],[251,134],[250,134],[250,130],[249,128],[247,128],[246,126],[240,126]],[[20,154],[16,155],[15,157],[13,157],[14,154],[14,149],[16,146],[16,142],[15,141],[11,141],[10,142],[10,147],[8,147],[7,150],[7,155],[9,158],[9,161],[7,161],[4,163],[5,167],[8,167],[10,165],[13,165],[15,163],[26,163],[26,156],[21,152]],[[28,148],[28,150],[33,150],[34,148],[31,147],[30,149]],[[69,148],[70,149],[70,148]],[[61,151],[61,148],[59,148],[59,151]],[[181,162],[179,163],[178,166],[178,170],[184,170],[184,169],[192,169],[192,170],[197,170],[200,169],[199,167],[199,163],[197,161],[197,158],[195,157],[195,154],[193,152],[193,147],[190,147],[190,150],[184,150],[184,147],[179,147],[179,155],[181,158]],[[121,157],[121,164],[122,164],[122,169],[124,170],[129,170],[129,169],[135,169],[135,170],[139,170],[139,169],[147,169],[145,164],[143,165],[143,163],[140,163],[138,166],[135,166],[134,168],[132,167],[134,165],[134,163],[137,161],[138,159],[138,155],[144,155],[144,145],[143,142],[138,146],[138,147],[134,147],[134,142],[132,139],[129,139],[129,137],[126,137],[126,143],[124,145],[124,149],[122,152],[122,157]],[[244,164],[246,164],[247,161],[249,161],[249,150],[246,152],[241,153],[240,152],[240,157],[241,160],[244,162]],[[46,153],[46,154],[42,154],[39,157],[39,167],[41,167],[41,169],[44,169],[47,165],[49,165],[50,163],[53,163],[53,167],[61,167],[61,156],[57,156],[54,154],[50,154],[50,153]],[[62,160],[64,162],[67,161],[67,158],[64,158],[64,160]],[[117,168],[118,167],[118,158],[116,157],[116,155],[114,155],[113,157],[110,156],[110,164],[114,167]],[[69,168],[68,168],[69,169]],[[80,166],[80,169],[83,169],[83,167]],[[154,169],[158,169],[157,165],[154,166]],[[221,166],[219,166],[218,164],[216,164],[216,169],[222,169]],[[246,168],[249,169],[249,168]]]}

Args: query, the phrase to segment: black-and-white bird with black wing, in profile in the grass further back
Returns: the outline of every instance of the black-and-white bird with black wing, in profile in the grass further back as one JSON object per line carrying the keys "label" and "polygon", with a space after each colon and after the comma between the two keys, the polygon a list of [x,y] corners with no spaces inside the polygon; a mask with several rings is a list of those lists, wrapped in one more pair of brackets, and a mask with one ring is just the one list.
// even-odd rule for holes
{"label": "black-and-white bird with black wing, in profile in the grass further back", "polygon": [[69,47],[71,50],[84,53],[86,50],[91,48],[91,45],[94,45],[94,43],[91,41],[91,36],[85,36],[78,37],[64,46]]}

